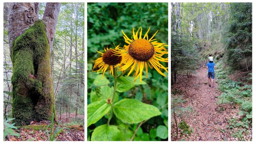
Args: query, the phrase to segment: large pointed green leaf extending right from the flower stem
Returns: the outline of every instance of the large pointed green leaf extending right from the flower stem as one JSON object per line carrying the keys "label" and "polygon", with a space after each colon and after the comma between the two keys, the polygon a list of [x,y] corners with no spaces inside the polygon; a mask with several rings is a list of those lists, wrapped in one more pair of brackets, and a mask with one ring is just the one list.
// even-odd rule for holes
{"label": "large pointed green leaf extending right from the flower stem", "polygon": [[139,123],[161,114],[157,107],[136,99],[122,99],[115,103],[113,110],[124,123]]}

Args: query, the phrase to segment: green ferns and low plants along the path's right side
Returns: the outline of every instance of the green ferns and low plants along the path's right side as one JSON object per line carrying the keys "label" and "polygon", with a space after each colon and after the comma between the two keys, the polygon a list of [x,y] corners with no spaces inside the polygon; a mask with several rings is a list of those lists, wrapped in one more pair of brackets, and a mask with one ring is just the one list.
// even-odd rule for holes
{"label": "green ferns and low plants along the path's right side", "polygon": [[249,128],[252,127],[252,85],[231,80],[227,74],[235,73],[230,68],[225,68],[222,61],[217,63],[216,68],[216,82],[222,92],[216,103],[239,106],[240,112],[237,115],[242,115],[242,118],[228,120],[227,130],[234,138],[245,140],[244,136],[250,133]]}

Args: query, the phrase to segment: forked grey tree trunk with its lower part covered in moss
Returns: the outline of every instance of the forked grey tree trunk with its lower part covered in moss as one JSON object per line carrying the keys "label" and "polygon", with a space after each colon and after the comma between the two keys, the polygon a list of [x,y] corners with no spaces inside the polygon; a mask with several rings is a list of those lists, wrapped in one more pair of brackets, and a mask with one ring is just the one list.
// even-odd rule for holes
{"label": "forked grey tree trunk with its lower part covered in moss", "polygon": [[[18,126],[27,125],[32,120],[49,120],[52,113],[56,117],[50,51],[60,3],[47,3],[43,20],[37,18],[38,5],[40,4],[10,3],[8,10],[12,13],[8,15],[8,25],[10,25],[8,37],[13,63],[12,115],[16,118],[15,122]],[[36,8],[37,12],[35,12]],[[22,14],[18,15],[20,11],[25,11],[25,17]],[[31,20],[27,20],[26,17]],[[15,24],[23,20],[27,27],[25,31],[15,27]],[[19,27],[19,24],[16,26]]]}

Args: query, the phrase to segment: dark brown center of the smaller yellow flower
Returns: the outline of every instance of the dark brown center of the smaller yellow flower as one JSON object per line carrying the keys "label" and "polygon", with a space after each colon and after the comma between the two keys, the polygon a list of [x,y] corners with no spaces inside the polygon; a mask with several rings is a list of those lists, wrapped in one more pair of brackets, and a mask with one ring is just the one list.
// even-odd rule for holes
{"label": "dark brown center of the smaller yellow flower", "polygon": [[103,54],[102,59],[108,65],[116,65],[121,62],[122,56],[117,56],[112,49],[109,49]]}

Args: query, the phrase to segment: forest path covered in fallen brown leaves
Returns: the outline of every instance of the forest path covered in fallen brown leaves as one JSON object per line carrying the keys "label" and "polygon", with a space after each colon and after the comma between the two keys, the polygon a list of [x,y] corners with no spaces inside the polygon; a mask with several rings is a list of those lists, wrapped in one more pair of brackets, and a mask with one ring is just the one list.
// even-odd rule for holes
{"label": "forest path covered in fallen brown leaves", "polygon": [[[234,138],[226,132],[221,132],[221,129],[226,129],[227,120],[236,115],[239,111],[234,109],[233,105],[217,105],[218,100],[215,96],[220,96],[221,92],[217,89],[218,84],[214,79],[214,88],[209,87],[209,80],[207,78],[207,69],[199,68],[196,70],[196,75],[187,77],[186,75],[179,75],[177,77],[177,84],[172,86],[172,90],[180,89],[187,102],[183,103],[183,107],[191,106],[193,112],[184,114],[178,118],[178,123],[181,119],[194,129],[190,136],[172,137],[172,140],[186,141],[222,141],[234,140]],[[216,75],[215,75],[216,77]],[[207,83],[206,83],[207,82]],[[172,127],[172,133],[176,133]],[[172,134],[173,135],[173,134]]]}

